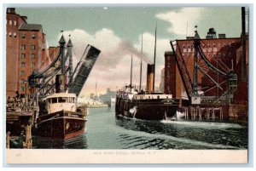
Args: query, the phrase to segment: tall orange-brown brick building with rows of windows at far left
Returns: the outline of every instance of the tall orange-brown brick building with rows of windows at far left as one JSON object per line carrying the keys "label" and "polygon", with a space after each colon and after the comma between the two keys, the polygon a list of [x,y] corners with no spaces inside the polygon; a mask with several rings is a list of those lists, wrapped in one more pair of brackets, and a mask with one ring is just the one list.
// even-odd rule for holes
{"label": "tall orange-brown brick building with rows of windows at far left", "polygon": [[8,8],[6,14],[6,95],[26,93],[26,79],[48,60],[45,35],[41,25],[27,24],[27,17]]}

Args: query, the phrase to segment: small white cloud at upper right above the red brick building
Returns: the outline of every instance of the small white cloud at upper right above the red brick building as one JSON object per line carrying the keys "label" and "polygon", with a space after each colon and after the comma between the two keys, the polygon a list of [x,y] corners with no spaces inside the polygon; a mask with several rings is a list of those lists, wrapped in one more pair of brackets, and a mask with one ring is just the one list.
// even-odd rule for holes
{"label": "small white cloud at upper right above the red brick building", "polygon": [[205,10],[204,8],[183,8],[177,11],[156,14],[156,18],[169,22],[171,26],[167,31],[176,34],[177,37],[184,37],[187,31],[188,36],[194,36],[194,26],[200,22]]}

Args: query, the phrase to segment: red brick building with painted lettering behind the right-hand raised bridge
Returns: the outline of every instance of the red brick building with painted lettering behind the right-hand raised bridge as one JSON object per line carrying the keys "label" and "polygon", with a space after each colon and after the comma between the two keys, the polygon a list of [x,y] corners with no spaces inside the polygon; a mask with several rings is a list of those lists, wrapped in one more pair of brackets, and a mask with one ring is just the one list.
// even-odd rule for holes
{"label": "red brick building with painted lettering behind the right-hand raised bridge", "polygon": [[[210,29],[211,31],[211,29]],[[235,93],[235,100],[239,101],[242,104],[245,104],[247,101],[247,86],[242,86],[243,83],[241,81],[241,37],[225,37],[224,34],[219,34],[218,38],[216,36],[206,38],[201,38],[201,48],[202,53],[205,55],[207,60],[209,60],[212,66],[216,66],[218,70],[222,71],[235,71],[237,75],[237,91],[243,91],[243,94]],[[248,44],[248,43],[247,43]],[[194,39],[191,37],[187,37],[187,39],[177,40],[177,56],[182,56],[184,63],[186,64],[187,71],[189,73],[189,77],[192,79],[194,77],[194,60],[195,60],[195,47],[194,47]],[[246,62],[248,64],[248,46],[246,46]],[[169,54],[169,52],[166,52]],[[168,59],[172,59],[168,60]],[[201,65],[201,61],[198,62]],[[179,72],[177,62],[175,62],[175,55],[169,54],[166,55],[166,66],[171,66],[170,68],[166,67],[166,92],[169,89],[172,89],[172,92],[175,92],[176,97],[182,94],[181,90],[185,91],[183,85],[183,78]],[[199,66],[200,66],[199,65]],[[201,65],[202,66],[202,65]],[[206,65],[204,65],[203,72],[197,73],[197,86],[203,91],[206,88],[212,88],[208,91],[205,91],[204,94],[207,96],[218,96],[220,97],[222,94],[227,91],[228,86],[226,83],[223,83],[225,80],[221,74],[216,74],[212,70],[209,70]],[[247,66],[246,66],[247,67]],[[174,69],[175,68],[175,69]],[[172,71],[171,71],[172,70]],[[247,69],[246,69],[247,71]],[[170,77],[172,76],[172,78]],[[185,74],[183,74],[184,77]],[[221,84],[222,88],[218,86],[214,87],[214,84],[210,77],[214,77],[216,83]],[[167,78],[170,77],[170,78]],[[247,76],[246,76],[247,77]],[[246,78],[247,79],[247,78]],[[183,88],[182,86],[183,85]]]}

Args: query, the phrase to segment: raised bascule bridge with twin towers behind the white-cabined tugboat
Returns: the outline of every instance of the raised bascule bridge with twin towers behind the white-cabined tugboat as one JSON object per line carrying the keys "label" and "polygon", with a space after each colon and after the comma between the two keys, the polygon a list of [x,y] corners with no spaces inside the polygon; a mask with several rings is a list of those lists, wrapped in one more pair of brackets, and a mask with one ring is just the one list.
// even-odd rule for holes
{"label": "raised bascule bridge with twin towers behind the white-cabined tugboat", "polygon": [[55,59],[42,71],[34,71],[28,77],[32,98],[44,98],[47,94],[66,92],[77,96],[84,87],[98,55],[101,51],[90,44],[84,49],[78,64],[73,70],[73,43],[61,37],[60,50]]}

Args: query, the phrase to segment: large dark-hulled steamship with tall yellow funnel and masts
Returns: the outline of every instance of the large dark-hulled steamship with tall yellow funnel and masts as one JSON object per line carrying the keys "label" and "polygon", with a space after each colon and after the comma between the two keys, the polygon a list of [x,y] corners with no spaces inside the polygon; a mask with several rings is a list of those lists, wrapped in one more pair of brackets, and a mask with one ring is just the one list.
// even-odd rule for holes
{"label": "large dark-hulled steamship with tall yellow funnel and masts", "polygon": [[[143,38],[142,38],[143,39]],[[143,41],[142,41],[143,47]],[[139,92],[130,83],[116,94],[116,115],[145,120],[162,120],[174,117],[179,107],[179,100],[173,99],[172,94],[154,92],[154,69],[155,69],[156,29],[154,43],[154,64],[148,64],[147,91],[141,90],[142,60],[140,73]],[[143,51],[143,50],[142,50]],[[131,56],[131,81],[132,81],[132,56]]]}

